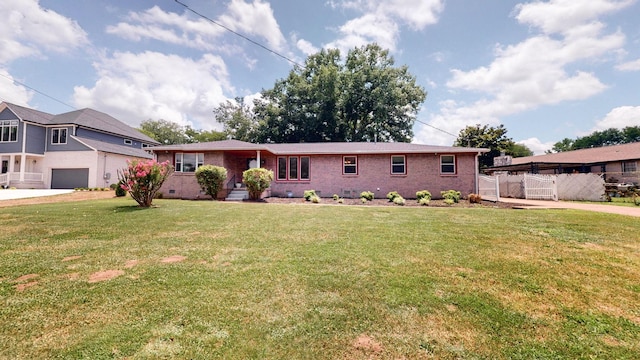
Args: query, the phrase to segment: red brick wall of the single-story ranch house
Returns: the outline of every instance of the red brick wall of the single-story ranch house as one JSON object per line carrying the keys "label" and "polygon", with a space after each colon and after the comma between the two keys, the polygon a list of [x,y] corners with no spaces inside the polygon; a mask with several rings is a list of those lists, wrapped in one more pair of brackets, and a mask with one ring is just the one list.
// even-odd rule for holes
{"label": "red brick wall of the single-story ranch house", "polygon": [[[457,190],[463,196],[475,190],[475,155],[456,154],[456,174],[440,175],[440,155],[407,154],[406,175],[391,175],[390,155],[359,155],[358,174],[342,174],[342,155],[316,155],[310,159],[310,180],[278,181],[274,180],[268,192],[271,196],[287,196],[291,191],[294,197],[302,197],[305,190],[316,190],[323,197],[333,194],[358,197],[362,191],[372,191],[376,198],[385,198],[388,192],[397,191],[405,198],[415,198],[416,191],[429,190],[434,198],[440,198],[440,191]],[[275,156],[263,156],[263,167],[276,173]],[[173,154],[158,154],[158,161],[170,160]],[[246,169],[246,157],[223,155],[221,152],[207,152],[204,163],[224,166],[228,179],[236,174],[236,181],[242,179]],[[193,173],[174,173],[161,189],[167,198],[196,199],[206,198],[198,186]],[[222,194],[221,194],[222,196]]]}

